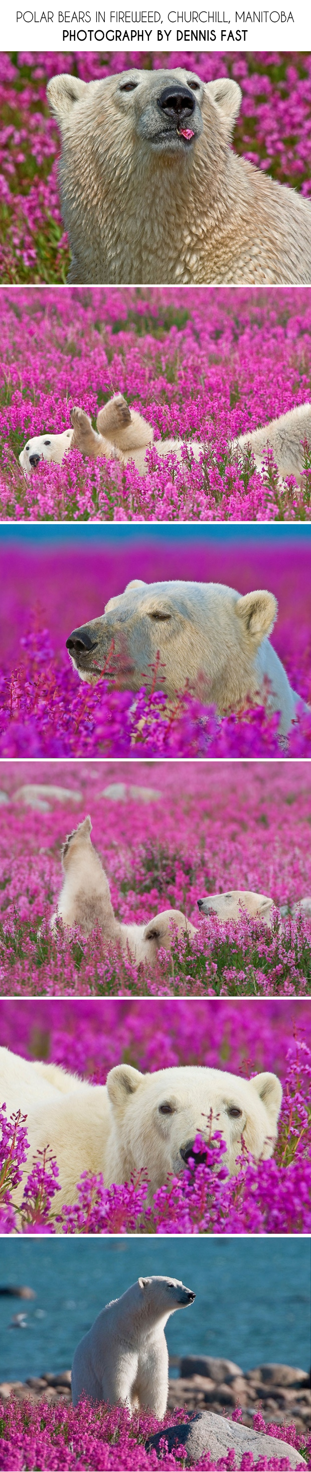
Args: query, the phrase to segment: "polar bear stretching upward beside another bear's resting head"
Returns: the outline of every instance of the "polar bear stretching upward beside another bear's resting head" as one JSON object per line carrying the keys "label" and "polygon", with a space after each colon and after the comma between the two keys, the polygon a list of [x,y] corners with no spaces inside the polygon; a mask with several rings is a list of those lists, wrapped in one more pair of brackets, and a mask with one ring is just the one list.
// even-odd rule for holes
{"label": "polar bear stretching upward beside another bear's resting head", "polygon": [[62,920],[65,927],[79,926],[88,936],[94,926],[100,926],[106,949],[119,942],[135,966],[147,961],[153,967],[160,946],[170,951],[173,935],[188,932],[194,936],[195,926],[186,920],[182,910],[163,910],[147,924],[120,924],[113,911],[107,874],[91,842],[91,827],[88,814],[63,845],[65,882],[57,910],[50,920],[51,929],[54,930],[57,920]]}

